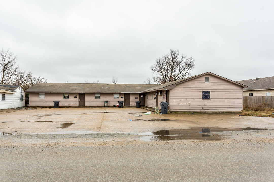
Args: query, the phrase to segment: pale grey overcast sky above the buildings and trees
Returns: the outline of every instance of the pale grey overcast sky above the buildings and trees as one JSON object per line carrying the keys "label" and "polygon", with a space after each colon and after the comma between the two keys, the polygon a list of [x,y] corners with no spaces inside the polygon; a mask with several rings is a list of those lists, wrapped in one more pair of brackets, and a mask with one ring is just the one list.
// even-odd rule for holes
{"label": "pale grey overcast sky above the buildings and trees", "polygon": [[192,75],[274,76],[272,0],[0,2],[0,47],[51,83],[143,83],[170,49]]}

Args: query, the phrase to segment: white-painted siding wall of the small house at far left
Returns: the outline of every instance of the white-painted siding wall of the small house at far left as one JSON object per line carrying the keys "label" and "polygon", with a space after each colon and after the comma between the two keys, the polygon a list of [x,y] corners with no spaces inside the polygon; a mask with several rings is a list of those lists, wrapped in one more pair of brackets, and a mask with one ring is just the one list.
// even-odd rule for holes
{"label": "white-painted siding wall of the small house at far left", "polygon": [[[21,89],[19,87],[15,90],[16,93],[0,92],[0,109],[19,108],[25,106],[25,92],[22,90],[23,101],[20,101]],[[6,94],[6,100],[2,100],[2,94]]]}

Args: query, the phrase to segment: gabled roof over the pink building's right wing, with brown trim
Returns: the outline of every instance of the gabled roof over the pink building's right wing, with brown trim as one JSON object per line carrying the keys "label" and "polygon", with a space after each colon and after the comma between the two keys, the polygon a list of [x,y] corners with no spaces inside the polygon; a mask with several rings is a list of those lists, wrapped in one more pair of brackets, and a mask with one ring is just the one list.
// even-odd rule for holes
{"label": "gabled roof over the pink building's right wing, with brown trim", "polygon": [[192,79],[194,79],[194,78],[197,78],[197,77],[200,77],[200,76],[203,76],[203,75],[206,75],[206,74],[211,74],[211,75],[213,75],[213,76],[216,76],[216,77],[221,78],[221,79],[223,79],[223,80],[226,80],[226,81],[228,81],[228,82],[232,82],[232,83],[234,83],[234,84],[236,84],[236,85],[242,86],[243,88],[247,88],[247,86],[244,85],[244,84],[234,82],[234,81],[232,81],[232,80],[230,80],[230,79],[227,79],[227,78],[225,78],[225,77],[219,76],[219,75],[214,74],[214,73],[211,73],[211,72],[206,72],[206,73],[201,73],[201,74],[197,74],[197,75],[194,75],[194,76],[190,76],[190,77],[187,77],[187,78],[184,78],[184,79],[176,80],[176,81],[173,81],[173,82],[164,83],[164,84],[161,84],[161,85],[156,85],[156,86],[154,86],[154,87],[152,87],[152,88],[149,88],[149,89],[144,90],[144,92],[156,91],[156,90],[161,90],[161,89],[167,89],[167,90],[169,90],[169,89],[174,88],[176,85],[178,85],[178,84],[180,84],[180,83],[183,83],[183,82],[192,80]]}

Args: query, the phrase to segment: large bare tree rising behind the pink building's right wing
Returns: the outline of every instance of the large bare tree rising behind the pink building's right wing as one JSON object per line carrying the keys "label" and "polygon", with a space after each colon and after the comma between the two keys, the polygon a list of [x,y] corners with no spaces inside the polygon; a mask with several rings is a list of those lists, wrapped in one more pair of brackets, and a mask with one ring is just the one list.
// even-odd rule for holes
{"label": "large bare tree rising behind the pink building's right wing", "polygon": [[179,50],[170,49],[169,54],[157,58],[150,69],[158,73],[158,82],[161,84],[173,82],[190,76],[190,71],[195,68],[194,58],[179,55]]}

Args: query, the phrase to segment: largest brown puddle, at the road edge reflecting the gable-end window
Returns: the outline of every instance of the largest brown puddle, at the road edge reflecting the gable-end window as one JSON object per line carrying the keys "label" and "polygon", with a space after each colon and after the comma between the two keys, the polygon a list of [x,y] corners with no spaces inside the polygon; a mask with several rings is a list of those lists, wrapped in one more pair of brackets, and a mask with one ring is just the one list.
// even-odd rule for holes
{"label": "largest brown puddle, at the road edge reflecting the gable-end window", "polygon": [[[204,128],[203,128],[204,129]],[[187,130],[159,130],[153,132],[152,135],[147,133],[139,133],[138,135],[145,135],[140,137],[144,141],[166,141],[166,140],[182,140],[182,139],[197,139],[197,140],[223,140],[225,139],[216,132],[231,132],[231,131],[249,131],[249,130],[273,130],[273,129],[262,129],[262,128],[210,128],[210,133],[202,133],[202,128],[193,128]],[[205,131],[205,130],[204,130]]]}

